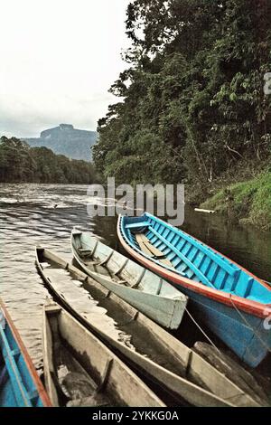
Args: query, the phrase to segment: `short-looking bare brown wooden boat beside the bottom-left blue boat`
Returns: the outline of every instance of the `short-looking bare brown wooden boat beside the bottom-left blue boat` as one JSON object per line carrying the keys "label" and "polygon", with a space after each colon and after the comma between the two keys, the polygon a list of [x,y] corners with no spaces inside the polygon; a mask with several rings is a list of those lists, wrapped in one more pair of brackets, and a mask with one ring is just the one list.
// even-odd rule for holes
{"label": "short-looking bare brown wooden boat beside the bottom-left blue boat", "polygon": [[43,363],[54,406],[165,406],[117,355],[50,300],[43,307]]}

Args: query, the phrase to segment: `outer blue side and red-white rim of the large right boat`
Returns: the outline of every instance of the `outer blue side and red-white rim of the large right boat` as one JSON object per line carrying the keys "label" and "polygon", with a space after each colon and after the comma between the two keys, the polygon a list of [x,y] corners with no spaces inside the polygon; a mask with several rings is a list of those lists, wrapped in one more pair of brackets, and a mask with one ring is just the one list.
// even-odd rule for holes
{"label": "outer blue side and red-white rim of the large right boat", "polygon": [[[187,279],[174,269],[165,268],[133,246],[126,237],[125,225],[122,220],[123,217],[120,216],[117,234],[126,251],[145,267],[170,281],[176,288],[180,288],[182,293],[190,298],[188,308],[192,307],[193,315],[218,335],[242,361],[250,367],[257,367],[271,348],[271,332],[268,324],[268,317],[271,316],[270,305],[265,306],[245,297],[238,297],[231,292],[227,293],[214,287],[207,287],[199,281]],[[133,218],[133,226],[138,221],[138,228],[140,228],[140,220],[144,219]],[[159,219],[157,221],[162,225],[164,223]],[[212,249],[208,247],[208,250]],[[215,250],[213,252],[217,254]],[[229,259],[227,262],[229,265]],[[249,277],[257,279],[236,263],[232,262],[232,264],[248,273]],[[264,283],[263,287],[266,287]]]}

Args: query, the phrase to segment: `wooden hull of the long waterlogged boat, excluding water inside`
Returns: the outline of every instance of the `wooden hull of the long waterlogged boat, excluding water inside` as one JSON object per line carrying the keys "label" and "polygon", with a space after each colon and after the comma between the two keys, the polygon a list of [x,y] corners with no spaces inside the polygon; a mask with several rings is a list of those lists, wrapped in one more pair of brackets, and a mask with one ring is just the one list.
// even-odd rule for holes
{"label": "wooden hull of the long waterlogged boat, excluding water inside", "polygon": [[[188,401],[192,405],[258,406],[256,401],[252,400],[248,394],[240,390],[233,382],[230,382],[225,375],[219,373],[208,362],[204,361],[201,356],[176,340],[173,335],[168,334],[168,332],[161,326],[156,325],[151,319],[139,313],[135,307],[131,307],[126,301],[117,297],[117,295],[108,291],[107,288],[90,279],[85,273],[67,263],[66,260],[62,260],[49,250],[42,248],[37,249],[36,260],[42,278],[54,292],[55,296],[61,300],[61,304],[67,307],[72,315],[78,318],[84,326],[87,326],[102,342],[109,345],[114,351],[116,350],[117,354],[123,356],[129,365],[132,364],[133,367],[135,366],[136,371],[140,371],[143,376],[148,377],[152,382],[157,382],[158,385],[162,384],[165,389],[167,388],[170,392],[178,394],[183,400]],[[61,290],[57,288],[57,282],[49,279],[48,272],[46,271],[47,268],[43,269],[42,267],[43,262],[47,263],[48,260],[55,263],[57,268],[60,266],[61,269],[68,270],[73,278],[84,282],[84,285],[89,287],[91,296],[95,294],[96,300],[102,302],[102,300],[107,299],[109,311],[117,312],[117,316],[114,316],[114,314],[113,316],[108,316],[107,322],[111,317],[111,319],[117,320],[116,323],[120,321],[120,323],[126,324],[125,332],[128,334],[131,332],[131,335],[134,335],[135,345],[140,338],[143,338],[144,341],[140,340],[139,346],[141,350],[145,346],[143,352],[145,355],[139,353],[135,347],[130,347],[129,342],[124,342],[126,341],[124,339],[125,334],[122,331],[121,339],[118,339],[118,336],[112,332],[111,327],[108,327],[107,330],[107,327],[101,326],[100,319],[96,323],[95,316],[93,319],[93,313],[90,310],[88,311],[87,306],[79,307],[81,303],[79,302],[80,295],[78,289],[76,289],[76,293],[72,292],[72,294],[69,289],[66,294],[63,293],[65,291],[62,288]],[[74,300],[77,300],[76,303]],[[93,307],[89,308],[93,310]],[[139,335],[136,332],[137,326],[141,328]],[[145,338],[147,344],[145,344]],[[150,345],[154,345],[154,353],[148,351]],[[155,361],[152,360],[153,355]],[[158,363],[156,363],[156,359]],[[173,365],[173,369],[170,364]],[[174,372],[176,370],[179,371],[180,375]],[[193,382],[199,382],[200,385],[203,383],[204,388],[209,388],[213,393]]]}

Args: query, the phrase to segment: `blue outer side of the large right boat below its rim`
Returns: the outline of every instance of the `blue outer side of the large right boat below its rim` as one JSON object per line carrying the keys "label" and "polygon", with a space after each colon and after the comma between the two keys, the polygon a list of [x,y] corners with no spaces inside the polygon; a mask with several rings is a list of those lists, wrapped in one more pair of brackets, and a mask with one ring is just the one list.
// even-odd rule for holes
{"label": "blue outer side of the large right boat below its rim", "polygon": [[[271,346],[271,334],[270,330],[265,329],[263,319],[242,313],[245,321],[232,307],[196,294],[187,288],[182,288],[182,293],[190,298],[188,308],[192,316],[218,335],[243,362],[256,367],[264,360],[268,347]],[[251,327],[247,326],[246,322]]]}

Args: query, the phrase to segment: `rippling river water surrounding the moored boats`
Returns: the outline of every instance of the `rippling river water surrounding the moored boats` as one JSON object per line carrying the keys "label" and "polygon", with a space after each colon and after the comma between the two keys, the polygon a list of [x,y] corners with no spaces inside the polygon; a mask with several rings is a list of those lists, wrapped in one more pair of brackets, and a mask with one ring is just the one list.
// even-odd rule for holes
{"label": "rippling river water surrounding the moored boats", "polygon": [[[0,297],[37,369],[42,369],[42,304],[48,291],[35,268],[35,245],[71,260],[70,231],[77,226],[123,252],[117,241],[117,218],[89,217],[87,189],[87,185],[0,184]],[[189,207],[182,229],[271,281],[270,232],[233,225],[217,214],[195,213]],[[191,335],[199,336],[192,327],[182,332],[185,343]]]}

